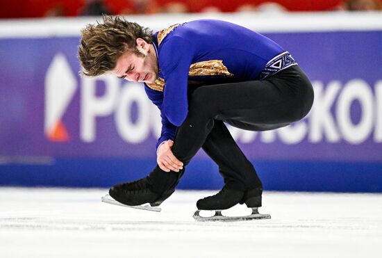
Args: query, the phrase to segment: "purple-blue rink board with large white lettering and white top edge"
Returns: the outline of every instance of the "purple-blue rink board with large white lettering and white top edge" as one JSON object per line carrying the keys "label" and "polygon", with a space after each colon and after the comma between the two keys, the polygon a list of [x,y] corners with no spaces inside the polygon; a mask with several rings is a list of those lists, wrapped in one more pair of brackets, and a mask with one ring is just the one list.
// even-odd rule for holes
{"label": "purple-blue rink board with large white lettering and white top edge", "polygon": [[[231,129],[269,190],[382,191],[382,24],[342,16],[285,15],[279,30],[265,17],[230,18],[290,51],[315,89],[301,122],[257,134]],[[154,30],[172,24],[158,20],[142,19]],[[88,22],[1,23],[0,185],[108,187],[155,166],[160,120],[142,86],[78,76],[79,29]],[[201,153],[179,188],[221,186]]]}

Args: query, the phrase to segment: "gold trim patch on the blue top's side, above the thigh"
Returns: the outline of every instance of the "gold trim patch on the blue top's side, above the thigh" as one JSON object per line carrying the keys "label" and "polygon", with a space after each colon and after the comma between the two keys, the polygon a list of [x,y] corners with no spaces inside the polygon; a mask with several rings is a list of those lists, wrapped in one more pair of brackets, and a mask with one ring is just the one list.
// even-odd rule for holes
{"label": "gold trim patch on the blue top's side, above the thigh", "polygon": [[190,65],[190,72],[188,72],[188,76],[204,75],[233,76],[233,74],[228,71],[227,67],[223,65],[222,60],[201,61]]}

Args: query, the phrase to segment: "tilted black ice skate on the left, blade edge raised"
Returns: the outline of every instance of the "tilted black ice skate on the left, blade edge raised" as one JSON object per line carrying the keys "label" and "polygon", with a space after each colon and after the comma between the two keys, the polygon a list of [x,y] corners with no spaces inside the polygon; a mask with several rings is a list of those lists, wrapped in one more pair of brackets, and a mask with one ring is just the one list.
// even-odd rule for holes
{"label": "tilted black ice skate on the left, blade edge raised", "polygon": [[[149,188],[147,177],[144,177],[133,182],[116,184],[110,188],[109,195],[102,197],[101,200],[110,204],[117,204],[135,209],[160,211],[160,208],[156,206],[160,205],[164,200],[172,195],[172,193],[174,193],[174,189],[166,191],[162,195],[154,193]],[[114,200],[110,197],[113,197]],[[147,203],[149,205],[142,206],[142,204]]]}

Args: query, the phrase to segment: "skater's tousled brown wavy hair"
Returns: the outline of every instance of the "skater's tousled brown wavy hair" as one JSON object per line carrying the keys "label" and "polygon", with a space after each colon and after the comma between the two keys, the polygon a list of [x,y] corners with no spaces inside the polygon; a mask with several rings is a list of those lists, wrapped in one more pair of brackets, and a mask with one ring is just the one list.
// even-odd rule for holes
{"label": "skater's tousled brown wavy hair", "polygon": [[78,59],[86,76],[110,72],[125,51],[140,55],[135,43],[137,38],[152,42],[153,32],[135,22],[107,15],[102,19],[103,23],[88,24],[81,30]]}

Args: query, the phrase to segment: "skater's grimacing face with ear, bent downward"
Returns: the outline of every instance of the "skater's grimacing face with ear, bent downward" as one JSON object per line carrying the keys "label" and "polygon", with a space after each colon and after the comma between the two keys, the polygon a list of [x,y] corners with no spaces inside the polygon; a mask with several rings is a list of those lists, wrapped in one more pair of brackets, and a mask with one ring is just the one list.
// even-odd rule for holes
{"label": "skater's grimacing face with ear, bent downward", "polygon": [[153,83],[158,79],[158,59],[153,45],[138,38],[137,50],[128,50],[117,59],[113,74],[121,79]]}

